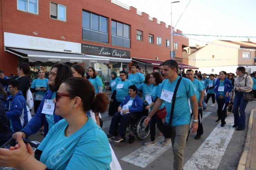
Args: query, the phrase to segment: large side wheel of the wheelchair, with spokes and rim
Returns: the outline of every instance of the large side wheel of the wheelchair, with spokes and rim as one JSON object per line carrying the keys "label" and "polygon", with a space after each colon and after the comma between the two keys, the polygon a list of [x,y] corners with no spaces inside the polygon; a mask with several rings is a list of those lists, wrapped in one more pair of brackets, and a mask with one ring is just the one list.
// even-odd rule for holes
{"label": "large side wheel of the wheelchair, with spokes and rim", "polygon": [[136,123],[136,136],[139,140],[145,139],[150,132],[150,130],[144,124],[144,119],[146,118],[147,116],[141,116]]}

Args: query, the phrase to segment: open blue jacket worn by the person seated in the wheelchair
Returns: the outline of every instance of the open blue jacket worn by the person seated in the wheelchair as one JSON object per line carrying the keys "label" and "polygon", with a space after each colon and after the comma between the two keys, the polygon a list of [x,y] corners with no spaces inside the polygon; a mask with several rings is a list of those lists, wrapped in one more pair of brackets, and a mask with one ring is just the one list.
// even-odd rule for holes
{"label": "open blue jacket worn by the person seated in the wheelchair", "polygon": [[[120,106],[123,107],[130,100],[130,98],[131,98],[130,95],[126,96],[125,99],[120,104]],[[135,112],[142,112],[142,110],[143,110],[143,101],[138,95],[136,95],[135,99],[132,101],[131,108],[129,109],[129,111],[132,113],[135,113]]]}

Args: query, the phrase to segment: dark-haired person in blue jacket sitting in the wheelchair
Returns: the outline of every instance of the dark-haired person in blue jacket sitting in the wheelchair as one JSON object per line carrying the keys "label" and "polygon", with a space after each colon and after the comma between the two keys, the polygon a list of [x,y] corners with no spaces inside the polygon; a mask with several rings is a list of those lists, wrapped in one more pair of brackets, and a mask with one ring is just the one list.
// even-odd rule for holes
{"label": "dark-haired person in blue jacket sitting in the wheelchair", "polygon": [[[119,105],[118,112],[113,115],[109,128],[108,139],[116,136],[113,141],[124,142],[128,123],[131,122],[132,117],[136,112],[142,112],[142,110],[143,101],[139,96],[137,96],[136,86],[131,85],[129,86],[129,96],[126,96]],[[118,123],[120,123],[119,129]]]}

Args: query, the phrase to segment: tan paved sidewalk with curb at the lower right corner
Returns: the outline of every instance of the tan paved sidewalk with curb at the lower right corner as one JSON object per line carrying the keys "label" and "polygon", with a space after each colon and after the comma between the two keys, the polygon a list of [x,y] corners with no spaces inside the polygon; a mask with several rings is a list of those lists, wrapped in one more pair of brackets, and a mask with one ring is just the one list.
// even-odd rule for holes
{"label": "tan paved sidewalk with curb at the lower right corner", "polygon": [[250,113],[244,151],[237,170],[256,170],[256,109]]}

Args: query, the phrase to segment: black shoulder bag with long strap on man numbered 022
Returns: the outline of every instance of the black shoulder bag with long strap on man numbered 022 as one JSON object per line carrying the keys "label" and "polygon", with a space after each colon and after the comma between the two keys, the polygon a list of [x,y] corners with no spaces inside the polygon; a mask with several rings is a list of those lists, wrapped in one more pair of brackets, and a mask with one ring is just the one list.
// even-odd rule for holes
{"label": "black shoulder bag with long strap on man numbered 022", "polygon": [[165,138],[171,138],[172,137],[172,118],[173,118],[173,110],[174,110],[174,104],[175,104],[175,99],[176,99],[176,93],[178,91],[178,87],[180,85],[181,82],[181,77],[179,78],[174,93],[173,93],[173,97],[172,97],[172,108],[171,108],[171,114],[170,114],[170,120],[169,122],[163,122],[163,130],[162,133],[164,135]]}

